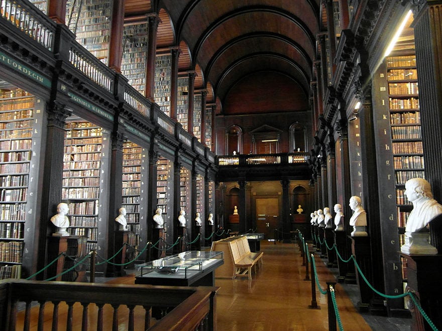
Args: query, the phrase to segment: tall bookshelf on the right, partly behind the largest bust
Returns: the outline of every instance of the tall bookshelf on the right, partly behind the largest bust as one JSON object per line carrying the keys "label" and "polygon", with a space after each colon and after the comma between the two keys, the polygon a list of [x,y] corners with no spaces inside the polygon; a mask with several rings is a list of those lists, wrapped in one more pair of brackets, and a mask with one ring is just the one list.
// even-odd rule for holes
{"label": "tall bookshelf on the right, partly behind the largest bust", "polygon": [[[405,183],[411,178],[425,178],[419,112],[419,89],[415,55],[386,59],[391,149],[396,189],[396,221],[399,245],[404,244],[404,229],[412,210]],[[401,257],[401,276],[407,283],[407,261]]]}

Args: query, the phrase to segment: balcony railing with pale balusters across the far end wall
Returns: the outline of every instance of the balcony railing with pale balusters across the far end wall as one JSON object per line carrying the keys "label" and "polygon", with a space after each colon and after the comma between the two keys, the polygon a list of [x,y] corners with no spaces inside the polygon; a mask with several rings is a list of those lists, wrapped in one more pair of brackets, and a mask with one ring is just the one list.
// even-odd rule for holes
{"label": "balcony railing with pale balusters across the far end wall", "polygon": [[278,154],[237,154],[218,156],[219,167],[261,164],[293,164],[306,163],[309,154],[306,152]]}

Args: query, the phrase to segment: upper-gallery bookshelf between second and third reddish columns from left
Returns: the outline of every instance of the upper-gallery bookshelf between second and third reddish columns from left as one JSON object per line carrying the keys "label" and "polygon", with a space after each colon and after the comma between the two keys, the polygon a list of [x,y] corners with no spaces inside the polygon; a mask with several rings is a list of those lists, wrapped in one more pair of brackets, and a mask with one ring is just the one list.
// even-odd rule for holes
{"label": "upper-gallery bookshelf between second and third reddish columns from left", "polygon": [[121,72],[129,84],[144,95],[146,90],[147,23],[125,24]]}

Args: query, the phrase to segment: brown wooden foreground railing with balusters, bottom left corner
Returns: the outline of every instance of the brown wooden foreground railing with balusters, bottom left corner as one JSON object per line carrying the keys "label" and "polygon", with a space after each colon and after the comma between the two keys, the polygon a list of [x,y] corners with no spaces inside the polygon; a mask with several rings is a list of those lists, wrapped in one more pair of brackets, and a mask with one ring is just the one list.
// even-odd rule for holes
{"label": "brown wooden foreground railing with balusters, bottom left corner", "polygon": [[[2,330],[19,329],[18,307],[24,302],[25,331],[31,323],[34,329],[35,324],[38,330],[48,329],[51,316],[53,331],[79,329],[79,325],[81,330],[118,330],[123,320],[129,331],[140,326],[144,330],[214,330],[217,289],[6,279],[0,281],[0,325]],[[152,307],[168,311],[153,325]]]}

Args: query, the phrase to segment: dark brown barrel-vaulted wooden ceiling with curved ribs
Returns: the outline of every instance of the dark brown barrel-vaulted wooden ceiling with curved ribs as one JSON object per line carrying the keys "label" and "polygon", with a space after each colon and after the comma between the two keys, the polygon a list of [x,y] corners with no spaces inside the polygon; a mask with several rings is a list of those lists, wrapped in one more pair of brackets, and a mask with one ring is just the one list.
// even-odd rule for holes
{"label": "dark brown barrel-vaulted wooden ceiling with curved ribs", "polygon": [[[126,18],[157,14],[157,52],[179,46],[179,70],[195,70],[195,89],[222,107],[246,77],[288,78],[308,100],[324,30],[320,0],[126,0]],[[218,107],[217,107],[218,108]],[[219,109],[218,109],[219,111]]]}

